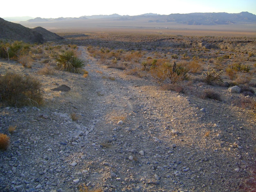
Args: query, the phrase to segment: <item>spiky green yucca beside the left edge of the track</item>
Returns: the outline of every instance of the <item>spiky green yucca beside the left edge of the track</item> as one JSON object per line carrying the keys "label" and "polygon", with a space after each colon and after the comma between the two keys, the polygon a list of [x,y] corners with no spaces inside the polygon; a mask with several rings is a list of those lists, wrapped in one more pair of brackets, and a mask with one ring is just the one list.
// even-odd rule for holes
{"label": "spiky green yucca beside the left edge of the track", "polygon": [[57,65],[61,70],[66,70],[74,73],[80,73],[80,69],[85,66],[85,61],[75,57],[74,50],[60,51],[58,58],[56,59]]}

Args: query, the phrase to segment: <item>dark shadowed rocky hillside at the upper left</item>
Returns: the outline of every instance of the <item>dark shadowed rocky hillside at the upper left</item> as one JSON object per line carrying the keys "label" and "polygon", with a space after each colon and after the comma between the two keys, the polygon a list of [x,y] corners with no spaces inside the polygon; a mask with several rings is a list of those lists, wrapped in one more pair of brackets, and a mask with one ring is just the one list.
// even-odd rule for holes
{"label": "dark shadowed rocky hillside at the upper left", "polygon": [[2,18],[0,18],[0,26],[0,39],[12,39],[29,43],[44,43],[62,39],[62,37],[42,27],[30,29],[17,23],[5,21]]}

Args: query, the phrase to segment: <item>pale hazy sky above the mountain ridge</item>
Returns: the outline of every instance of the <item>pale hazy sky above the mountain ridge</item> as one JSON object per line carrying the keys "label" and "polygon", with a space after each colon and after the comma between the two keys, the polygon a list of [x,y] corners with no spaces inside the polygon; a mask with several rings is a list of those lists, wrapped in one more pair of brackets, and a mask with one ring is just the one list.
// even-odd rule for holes
{"label": "pale hazy sky above the mountain ridge", "polygon": [[256,0],[12,0],[1,1],[0,17],[42,18],[156,13],[240,13],[256,15]]}

